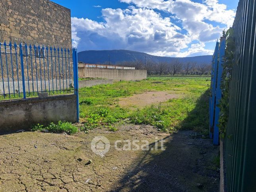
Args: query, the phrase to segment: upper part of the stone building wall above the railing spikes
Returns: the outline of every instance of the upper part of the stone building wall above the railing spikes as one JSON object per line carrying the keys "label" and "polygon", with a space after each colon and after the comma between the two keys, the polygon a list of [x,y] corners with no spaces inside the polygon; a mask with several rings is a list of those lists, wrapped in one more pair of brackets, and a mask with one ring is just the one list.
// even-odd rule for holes
{"label": "upper part of the stone building wall above the railing spikes", "polygon": [[49,0],[0,0],[0,41],[72,48],[70,10]]}

